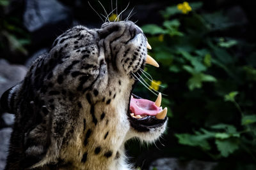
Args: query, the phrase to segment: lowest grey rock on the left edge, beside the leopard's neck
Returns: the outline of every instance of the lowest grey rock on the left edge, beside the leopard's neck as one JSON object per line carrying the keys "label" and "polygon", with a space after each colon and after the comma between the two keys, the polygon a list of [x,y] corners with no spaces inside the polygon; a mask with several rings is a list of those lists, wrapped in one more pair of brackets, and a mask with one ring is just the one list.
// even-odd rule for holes
{"label": "lowest grey rock on the left edge, beside the leopard's neck", "polygon": [[0,130],[0,169],[4,169],[6,164],[6,157],[8,155],[8,145],[12,128],[4,128]]}

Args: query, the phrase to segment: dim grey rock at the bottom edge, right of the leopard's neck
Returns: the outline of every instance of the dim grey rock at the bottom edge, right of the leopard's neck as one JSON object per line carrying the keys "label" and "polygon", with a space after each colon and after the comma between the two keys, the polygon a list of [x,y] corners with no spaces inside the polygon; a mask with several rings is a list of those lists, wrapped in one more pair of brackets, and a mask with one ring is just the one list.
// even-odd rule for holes
{"label": "dim grey rock at the bottom edge, right of the leopard's neck", "polygon": [[152,170],[156,167],[157,170],[212,170],[215,166],[217,166],[216,162],[200,160],[184,162],[175,158],[161,158],[152,162],[149,169]]}

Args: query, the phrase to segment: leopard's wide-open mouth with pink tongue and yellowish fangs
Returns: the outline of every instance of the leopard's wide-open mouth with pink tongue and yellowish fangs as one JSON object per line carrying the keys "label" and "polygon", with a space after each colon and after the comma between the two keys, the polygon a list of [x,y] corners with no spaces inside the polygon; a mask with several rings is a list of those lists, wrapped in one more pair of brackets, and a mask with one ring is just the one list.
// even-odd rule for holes
{"label": "leopard's wide-open mouth with pink tongue and yellowish fangs", "polygon": [[[147,43],[147,48],[151,49]],[[147,55],[146,64],[159,67],[156,60]],[[161,127],[166,122],[167,108],[161,107],[162,96],[158,94],[156,101],[142,99],[134,94],[131,94],[129,105],[129,121],[131,126],[140,132],[150,131],[157,127]]]}

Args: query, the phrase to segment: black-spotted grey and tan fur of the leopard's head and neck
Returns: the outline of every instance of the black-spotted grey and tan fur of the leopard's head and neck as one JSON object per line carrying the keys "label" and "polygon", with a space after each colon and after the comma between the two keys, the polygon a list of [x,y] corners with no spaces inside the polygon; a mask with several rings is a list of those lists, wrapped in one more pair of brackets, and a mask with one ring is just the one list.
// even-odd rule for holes
{"label": "black-spotted grey and tan fur of the leopard's head and neck", "polygon": [[131,75],[144,65],[146,42],[130,21],[59,36],[1,97],[15,113],[6,169],[131,169],[125,141],[154,141],[166,126],[138,131],[129,123]]}

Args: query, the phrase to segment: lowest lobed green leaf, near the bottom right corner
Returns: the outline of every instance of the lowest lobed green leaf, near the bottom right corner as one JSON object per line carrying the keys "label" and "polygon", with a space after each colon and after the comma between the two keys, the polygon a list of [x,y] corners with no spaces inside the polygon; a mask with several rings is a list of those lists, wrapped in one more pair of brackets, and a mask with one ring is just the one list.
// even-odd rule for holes
{"label": "lowest lobed green leaf, near the bottom right corner", "polygon": [[237,139],[216,139],[215,143],[223,157],[228,157],[228,155],[234,153],[239,148],[239,143]]}

